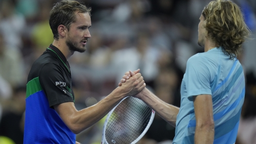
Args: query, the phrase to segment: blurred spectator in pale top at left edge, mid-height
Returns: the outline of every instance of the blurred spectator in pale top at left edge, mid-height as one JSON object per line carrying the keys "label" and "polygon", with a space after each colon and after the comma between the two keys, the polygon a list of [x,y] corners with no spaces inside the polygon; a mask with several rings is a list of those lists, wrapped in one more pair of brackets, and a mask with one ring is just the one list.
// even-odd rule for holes
{"label": "blurred spectator in pale top at left edge, mid-height", "polygon": [[11,86],[16,87],[24,82],[24,63],[18,49],[12,49],[3,41],[0,33],[0,75]]}

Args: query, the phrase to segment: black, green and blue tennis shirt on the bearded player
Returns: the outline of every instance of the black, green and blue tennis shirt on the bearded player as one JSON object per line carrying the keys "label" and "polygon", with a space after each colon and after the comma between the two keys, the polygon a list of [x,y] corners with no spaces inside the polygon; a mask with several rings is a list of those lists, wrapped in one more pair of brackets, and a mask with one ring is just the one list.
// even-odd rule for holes
{"label": "black, green and blue tennis shirt on the bearded player", "polygon": [[24,144],[75,144],[76,135],[53,109],[74,100],[69,64],[51,44],[28,75]]}

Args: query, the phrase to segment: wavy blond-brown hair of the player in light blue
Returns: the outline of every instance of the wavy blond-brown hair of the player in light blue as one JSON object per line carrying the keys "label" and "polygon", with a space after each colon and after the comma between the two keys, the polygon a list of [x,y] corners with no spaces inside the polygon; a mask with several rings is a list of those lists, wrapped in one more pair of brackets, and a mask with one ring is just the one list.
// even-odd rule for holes
{"label": "wavy blond-brown hair of the player in light blue", "polygon": [[213,0],[204,8],[202,15],[206,20],[207,37],[217,47],[222,46],[230,59],[236,58],[241,44],[251,33],[239,6],[230,0]]}

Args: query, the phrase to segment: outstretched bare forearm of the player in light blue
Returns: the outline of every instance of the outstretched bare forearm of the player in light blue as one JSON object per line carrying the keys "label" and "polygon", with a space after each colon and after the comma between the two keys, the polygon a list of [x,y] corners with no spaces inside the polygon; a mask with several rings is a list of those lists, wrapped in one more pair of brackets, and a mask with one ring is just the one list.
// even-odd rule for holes
{"label": "outstretched bare forearm of the player in light blue", "polygon": [[176,127],[176,118],[179,112],[178,107],[160,100],[146,88],[142,92],[141,99],[169,124]]}

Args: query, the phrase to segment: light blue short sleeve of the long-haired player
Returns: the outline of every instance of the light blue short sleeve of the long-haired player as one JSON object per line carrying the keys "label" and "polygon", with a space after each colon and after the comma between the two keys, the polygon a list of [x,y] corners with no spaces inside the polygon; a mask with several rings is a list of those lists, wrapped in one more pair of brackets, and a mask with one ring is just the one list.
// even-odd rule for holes
{"label": "light blue short sleeve of the long-haired player", "polygon": [[211,95],[210,77],[210,66],[205,57],[194,55],[189,58],[184,80],[190,101],[197,95]]}

